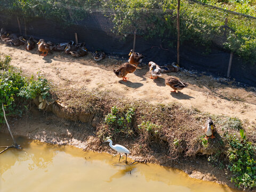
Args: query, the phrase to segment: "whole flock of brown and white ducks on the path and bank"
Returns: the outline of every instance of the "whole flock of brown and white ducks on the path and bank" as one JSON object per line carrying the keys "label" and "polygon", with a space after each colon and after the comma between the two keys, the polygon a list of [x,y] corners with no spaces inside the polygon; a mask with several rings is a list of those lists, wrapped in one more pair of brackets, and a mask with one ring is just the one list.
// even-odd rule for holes
{"label": "whole flock of brown and white ducks on the path and bank", "polygon": [[[3,28],[0,31],[1,40],[11,46],[25,46],[27,51],[33,50],[36,45],[38,45],[38,51],[42,52],[42,56],[46,56],[50,51],[63,51],[66,54],[71,54],[73,57],[83,57],[87,55],[88,50],[85,47],[85,43],[77,43],[74,41],[70,41],[68,43],[52,43],[45,42],[44,39],[40,39],[38,42],[36,39],[31,36],[26,39],[23,36],[18,36],[16,34],[12,34]],[[105,58],[105,53],[102,51],[93,53],[93,58],[95,61],[100,61]],[[128,62],[123,63],[117,69],[114,69],[114,73],[117,77],[123,78],[123,81],[126,82],[126,75],[129,73],[133,73],[138,65],[141,63],[142,59],[145,58],[141,53],[134,52],[133,50],[129,53]],[[148,63],[150,78],[156,79],[158,76],[161,76],[161,73],[169,73],[169,72],[177,72],[179,71],[179,66],[177,63],[172,63],[170,66],[158,66],[155,62],[150,61]],[[188,83],[181,82],[177,77],[169,76],[165,79],[165,84],[172,87],[173,91],[178,92],[178,90],[182,90],[183,88],[188,86]],[[203,131],[206,134],[206,139],[214,138],[213,132],[215,132],[215,126],[212,122],[212,119],[209,117],[205,125],[203,126]]]}

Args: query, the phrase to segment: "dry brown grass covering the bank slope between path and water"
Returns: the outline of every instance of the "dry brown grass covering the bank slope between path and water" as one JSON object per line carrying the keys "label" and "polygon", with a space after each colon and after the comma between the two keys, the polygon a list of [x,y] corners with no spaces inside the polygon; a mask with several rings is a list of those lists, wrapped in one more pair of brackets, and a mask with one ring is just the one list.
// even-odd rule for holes
{"label": "dry brown grass covering the bank slope between path and water", "polygon": [[[79,90],[54,90],[54,100],[62,101],[69,113],[78,115],[81,111],[87,111],[92,113],[94,118],[97,117],[95,134],[101,140],[107,137],[116,141],[123,140],[122,142],[130,140],[133,143],[140,143],[145,151],[161,148],[171,159],[181,156],[214,155],[220,151],[223,155],[226,153],[227,145],[225,135],[239,135],[239,129],[244,129],[247,138],[255,143],[255,127],[247,126],[245,123],[246,127],[243,128],[238,118],[202,113],[197,109],[184,108],[177,103],[153,105],[143,100],[111,98],[107,92],[88,91],[85,87]],[[123,130],[117,130],[120,127],[113,127],[104,121],[113,106],[117,106],[123,114],[127,109],[134,108],[132,123]],[[204,146],[204,133],[201,127],[209,116],[217,126],[217,133],[214,133],[216,138],[209,139],[208,145]],[[142,122],[150,122],[150,125],[156,126],[153,131],[147,128],[139,129],[138,125]]]}

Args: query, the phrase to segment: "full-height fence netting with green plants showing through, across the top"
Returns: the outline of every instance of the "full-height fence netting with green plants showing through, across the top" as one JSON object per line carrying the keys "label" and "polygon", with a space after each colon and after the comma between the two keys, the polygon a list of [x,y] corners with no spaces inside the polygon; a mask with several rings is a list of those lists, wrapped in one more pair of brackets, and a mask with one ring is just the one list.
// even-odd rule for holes
{"label": "full-height fence netting with green plants showing through, across the top", "polygon": [[[2,0],[0,27],[55,43],[85,42],[89,51],[127,57],[133,47],[144,62],[177,61],[177,0]],[[181,66],[256,83],[256,18],[196,0],[181,0]]]}

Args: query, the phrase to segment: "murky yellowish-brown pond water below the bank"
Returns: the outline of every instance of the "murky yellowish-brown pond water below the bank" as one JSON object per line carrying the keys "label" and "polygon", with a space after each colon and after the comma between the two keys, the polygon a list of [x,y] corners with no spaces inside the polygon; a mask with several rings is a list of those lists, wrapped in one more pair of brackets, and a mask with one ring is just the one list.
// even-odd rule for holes
{"label": "murky yellowish-brown pond water below the bank", "polygon": [[[0,155],[0,191],[237,191],[189,178],[182,171],[154,164],[125,165],[125,158],[17,137],[22,150]],[[0,145],[11,144],[0,133]],[[132,161],[132,159],[128,159]]]}

